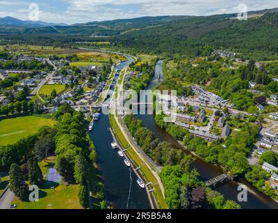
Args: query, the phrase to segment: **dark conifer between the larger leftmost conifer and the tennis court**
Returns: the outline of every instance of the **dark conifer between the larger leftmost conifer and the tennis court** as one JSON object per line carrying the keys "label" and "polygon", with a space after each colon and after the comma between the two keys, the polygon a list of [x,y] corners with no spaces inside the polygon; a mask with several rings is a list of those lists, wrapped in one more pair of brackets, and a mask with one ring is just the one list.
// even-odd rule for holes
{"label": "dark conifer between the larger leftmost conifer and the tennis court", "polygon": [[42,171],[38,165],[38,162],[33,159],[29,159],[28,165],[28,180],[32,185],[40,185],[43,181]]}

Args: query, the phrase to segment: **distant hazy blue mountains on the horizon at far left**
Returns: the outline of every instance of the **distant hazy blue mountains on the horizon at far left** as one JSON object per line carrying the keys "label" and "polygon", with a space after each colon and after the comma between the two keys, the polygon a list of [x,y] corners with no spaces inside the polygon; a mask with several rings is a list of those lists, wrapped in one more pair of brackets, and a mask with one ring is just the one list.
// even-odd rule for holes
{"label": "distant hazy blue mountains on the horizon at far left", "polygon": [[22,26],[26,28],[39,28],[39,27],[47,27],[47,26],[67,26],[67,24],[60,23],[49,23],[49,22],[42,22],[42,21],[30,21],[30,20],[19,20],[14,17],[0,17],[0,26]]}

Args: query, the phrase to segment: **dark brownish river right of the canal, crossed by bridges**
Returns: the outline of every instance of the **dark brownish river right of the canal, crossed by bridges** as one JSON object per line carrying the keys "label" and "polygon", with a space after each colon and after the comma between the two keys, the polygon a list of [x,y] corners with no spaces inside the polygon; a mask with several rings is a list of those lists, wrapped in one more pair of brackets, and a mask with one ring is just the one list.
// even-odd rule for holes
{"label": "dark brownish river right of the canal, crossed by bridges", "polygon": [[[156,86],[156,84],[158,84],[159,79],[163,79],[162,66],[163,66],[163,61],[158,61],[158,63],[156,63],[155,75],[146,90],[153,89]],[[142,120],[143,124],[149,130],[154,132],[154,134],[156,135],[156,137],[158,137],[158,139],[160,139],[161,141],[169,142],[170,144],[172,144],[173,148],[183,149],[183,147],[177,142],[177,140],[173,139],[170,136],[170,134],[167,134],[165,130],[158,128],[155,122],[154,114],[144,114],[144,115],[139,114],[138,118]],[[221,167],[213,164],[208,164],[204,162],[204,160],[200,159],[199,157],[196,157],[196,160],[193,163],[193,167],[195,167],[199,172],[200,180],[208,180],[222,174]],[[250,183],[248,183],[247,180],[245,179],[239,179],[238,182],[230,182],[221,185],[220,187],[217,187],[216,190],[222,193],[226,199],[232,199],[238,202],[237,200],[238,183],[243,183],[249,189],[247,193],[247,202],[240,202],[242,208],[246,208],[246,209],[278,208],[277,202],[273,201],[269,197],[266,197],[264,194],[256,190],[256,188],[250,185]]]}

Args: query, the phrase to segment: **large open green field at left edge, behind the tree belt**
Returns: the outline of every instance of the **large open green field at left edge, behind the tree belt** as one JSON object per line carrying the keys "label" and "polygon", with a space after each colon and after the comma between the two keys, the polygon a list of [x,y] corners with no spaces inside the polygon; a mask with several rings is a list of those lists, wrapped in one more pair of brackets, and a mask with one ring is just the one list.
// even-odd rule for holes
{"label": "large open green field at left edge, behind the tree belt", "polygon": [[0,146],[14,144],[19,139],[35,134],[44,125],[54,125],[55,121],[38,117],[25,116],[0,121]]}

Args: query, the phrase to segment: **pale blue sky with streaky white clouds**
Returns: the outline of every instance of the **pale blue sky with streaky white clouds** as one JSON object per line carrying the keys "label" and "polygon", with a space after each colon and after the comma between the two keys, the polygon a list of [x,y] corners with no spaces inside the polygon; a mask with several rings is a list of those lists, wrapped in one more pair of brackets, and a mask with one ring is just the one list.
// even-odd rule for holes
{"label": "pale blue sky with streaky white clouds", "polygon": [[[277,0],[0,0],[0,17],[29,20],[38,5],[38,19],[44,22],[76,24],[158,15],[213,15],[277,8]],[[37,18],[37,17],[35,17]]]}

